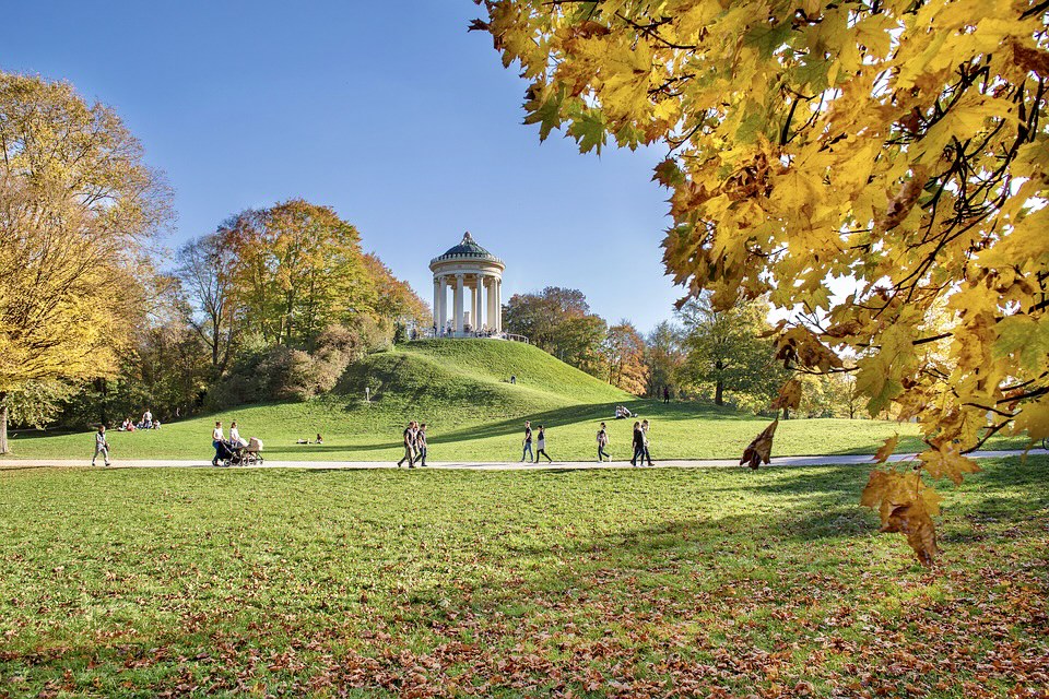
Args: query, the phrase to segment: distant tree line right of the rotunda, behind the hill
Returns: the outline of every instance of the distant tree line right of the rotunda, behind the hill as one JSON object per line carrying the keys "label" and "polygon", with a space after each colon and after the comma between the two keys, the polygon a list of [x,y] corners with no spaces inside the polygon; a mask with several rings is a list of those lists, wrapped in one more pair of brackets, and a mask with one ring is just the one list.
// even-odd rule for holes
{"label": "distant tree line right of the rotunda, behind the hill", "polygon": [[[582,292],[549,286],[515,294],[504,323],[563,362],[635,395],[662,398],[665,388],[676,399],[763,412],[789,378],[768,339],[768,313],[763,301],[717,310],[704,295],[643,335],[627,320],[610,325],[590,310]],[[795,416],[860,413],[850,376],[805,375],[801,381]]]}

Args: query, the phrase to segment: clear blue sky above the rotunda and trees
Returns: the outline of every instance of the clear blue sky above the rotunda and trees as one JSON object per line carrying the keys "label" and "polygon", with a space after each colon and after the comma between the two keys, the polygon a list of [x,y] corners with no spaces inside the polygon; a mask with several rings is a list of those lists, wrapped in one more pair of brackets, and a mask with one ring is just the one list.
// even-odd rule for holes
{"label": "clear blue sky above the rotunda and trees", "polygon": [[[524,83],[470,0],[9,2],[0,68],[117,109],[176,191],[170,247],[293,197],[333,206],[433,296],[463,230],[507,262],[504,298],[581,289],[641,330],[680,295],[659,242],[661,150],[580,155],[521,125]],[[15,31],[12,31],[16,27]]]}

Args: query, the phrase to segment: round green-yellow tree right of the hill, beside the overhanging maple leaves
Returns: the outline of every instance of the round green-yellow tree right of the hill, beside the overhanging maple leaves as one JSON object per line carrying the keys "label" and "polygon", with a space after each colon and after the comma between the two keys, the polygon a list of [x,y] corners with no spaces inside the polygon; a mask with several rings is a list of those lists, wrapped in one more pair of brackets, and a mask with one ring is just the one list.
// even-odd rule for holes
{"label": "round green-yellow tree right of the hill, beside the overhanging maple leaves", "polygon": [[726,392],[749,407],[764,407],[776,395],[787,371],[776,363],[775,346],[762,337],[769,330],[768,305],[740,303],[720,310],[709,295],[692,299],[679,311],[687,356],[679,376],[696,387],[710,387],[716,405]]}

